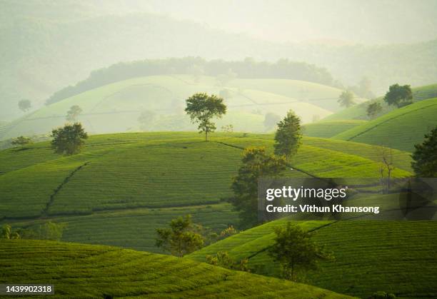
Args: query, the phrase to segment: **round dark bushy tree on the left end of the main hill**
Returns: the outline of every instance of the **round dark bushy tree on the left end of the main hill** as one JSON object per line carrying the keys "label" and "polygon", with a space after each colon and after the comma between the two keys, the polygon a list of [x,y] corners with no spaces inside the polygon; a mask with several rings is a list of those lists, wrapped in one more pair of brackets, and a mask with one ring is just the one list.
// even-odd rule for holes
{"label": "round dark bushy tree on the left end of the main hill", "polygon": [[51,137],[53,137],[51,147],[56,153],[73,155],[81,151],[88,134],[82,128],[81,123],[67,123],[64,127],[51,131]]}

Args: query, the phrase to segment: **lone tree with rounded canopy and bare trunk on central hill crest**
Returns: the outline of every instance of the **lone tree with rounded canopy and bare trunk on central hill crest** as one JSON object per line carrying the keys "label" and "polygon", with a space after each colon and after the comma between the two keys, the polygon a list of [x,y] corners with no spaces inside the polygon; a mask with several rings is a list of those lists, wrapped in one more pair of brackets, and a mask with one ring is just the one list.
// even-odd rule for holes
{"label": "lone tree with rounded canopy and bare trunk on central hill crest", "polygon": [[208,133],[216,130],[216,125],[211,119],[221,118],[226,114],[226,105],[223,103],[223,98],[218,96],[195,93],[186,99],[185,111],[193,123],[199,123],[199,133],[205,132],[205,140],[208,141]]}

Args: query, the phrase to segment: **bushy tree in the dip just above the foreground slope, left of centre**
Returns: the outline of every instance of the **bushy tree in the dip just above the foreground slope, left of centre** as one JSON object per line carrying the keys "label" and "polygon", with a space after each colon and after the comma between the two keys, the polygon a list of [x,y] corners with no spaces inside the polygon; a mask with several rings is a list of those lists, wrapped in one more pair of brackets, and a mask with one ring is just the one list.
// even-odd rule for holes
{"label": "bushy tree in the dip just above the foreground slope, left of centre", "polygon": [[179,257],[192,253],[204,245],[204,237],[197,233],[197,226],[191,215],[175,218],[170,222],[170,228],[156,229],[156,246]]}

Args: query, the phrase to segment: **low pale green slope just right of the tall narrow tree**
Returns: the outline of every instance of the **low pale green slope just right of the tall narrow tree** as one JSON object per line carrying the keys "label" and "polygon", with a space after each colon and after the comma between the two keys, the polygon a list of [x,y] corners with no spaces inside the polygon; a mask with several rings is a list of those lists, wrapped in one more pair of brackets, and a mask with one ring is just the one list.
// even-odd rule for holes
{"label": "low pale green slope just right of the tall narrow tree", "polygon": [[345,121],[318,121],[308,123],[303,126],[303,135],[311,137],[330,138],[338,133],[347,131],[350,128],[362,125],[366,121],[362,120],[345,120]]}

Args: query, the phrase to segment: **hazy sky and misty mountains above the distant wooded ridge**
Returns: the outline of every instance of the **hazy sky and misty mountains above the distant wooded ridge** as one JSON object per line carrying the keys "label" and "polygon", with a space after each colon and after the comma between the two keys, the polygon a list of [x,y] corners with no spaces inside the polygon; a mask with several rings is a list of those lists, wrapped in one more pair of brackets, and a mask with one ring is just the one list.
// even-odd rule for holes
{"label": "hazy sky and misty mountains above the distant wooded ridge", "polygon": [[[268,5],[267,5],[268,3]],[[305,2],[306,3],[306,2]],[[433,83],[434,1],[1,1],[0,120],[119,61],[201,56],[326,67],[343,84]],[[360,41],[361,44],[357,44]],[[403,41],[403,44],[392,44]],[[362,45],[363,43],[367,45]],[[415,44],[411,44],[415,43]],[[372,44],[384,44],[375,46]]]}

